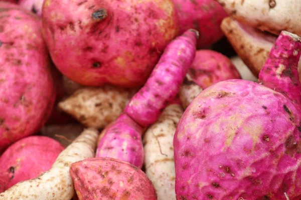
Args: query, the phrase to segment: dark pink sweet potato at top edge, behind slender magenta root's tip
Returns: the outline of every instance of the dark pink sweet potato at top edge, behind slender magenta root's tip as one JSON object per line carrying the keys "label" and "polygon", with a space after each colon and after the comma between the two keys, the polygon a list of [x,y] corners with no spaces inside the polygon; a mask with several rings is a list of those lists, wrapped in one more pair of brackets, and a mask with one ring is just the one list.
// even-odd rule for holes
{"label": "dark pink sweet potato at top edge, behind slender magenta root's tip", "polygon": [[215,0],[172,0],[176,6],[180,33],[189,28],[200,32],[198,48],[206,48],[224,35],[220,24],[227,12]]}

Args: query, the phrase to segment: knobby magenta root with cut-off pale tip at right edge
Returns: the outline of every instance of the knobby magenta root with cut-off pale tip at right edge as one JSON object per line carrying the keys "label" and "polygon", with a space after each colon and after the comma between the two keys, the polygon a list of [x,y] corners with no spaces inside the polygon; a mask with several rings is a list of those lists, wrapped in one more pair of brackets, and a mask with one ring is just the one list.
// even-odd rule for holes
{"label": "knobby magenta root with cut-off pale tip at right edge", "polygon": [[268,58],[259,73],[259,81],[265,86],[289,96],[301,103],[301,85],[298,76],[301,38],[281,31]]}

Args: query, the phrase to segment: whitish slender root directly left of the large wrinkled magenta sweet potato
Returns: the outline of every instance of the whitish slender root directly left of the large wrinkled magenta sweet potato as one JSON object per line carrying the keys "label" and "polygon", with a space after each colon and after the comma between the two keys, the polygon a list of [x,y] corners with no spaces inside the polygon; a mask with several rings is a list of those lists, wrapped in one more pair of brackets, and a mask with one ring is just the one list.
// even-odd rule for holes
{"label": "whitish slender root directly left of the large wrinkled magenta sweet potato", "polygon": [[173,138],[182,114],[181,105],[168,105],[143,137],[145,173],[154,184],[158,200],[176,199]]}

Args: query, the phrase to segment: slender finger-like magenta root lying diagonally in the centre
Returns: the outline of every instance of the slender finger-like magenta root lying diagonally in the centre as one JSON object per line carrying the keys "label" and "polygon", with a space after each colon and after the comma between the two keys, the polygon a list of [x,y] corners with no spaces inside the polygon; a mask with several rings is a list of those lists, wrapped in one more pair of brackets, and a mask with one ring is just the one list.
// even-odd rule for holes
{"label": "slender finger-like magenta root lying diagonally in the centre", "polygon": [[144,86],[131,98],[125,112],[143,127],[154,123],[175,98],[195,58],[198,32],[187,30],[164,50]]}

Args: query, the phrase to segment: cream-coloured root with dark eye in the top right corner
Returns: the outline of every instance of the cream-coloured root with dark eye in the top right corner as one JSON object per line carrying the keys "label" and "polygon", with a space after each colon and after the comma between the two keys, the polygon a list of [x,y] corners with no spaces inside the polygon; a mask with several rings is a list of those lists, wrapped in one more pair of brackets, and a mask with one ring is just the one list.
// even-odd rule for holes
{"label": "cream-coloured root with dark eye in the top right corner", "polygon": [[260,30],[281,30],[301,35],[301,4],[298,0],[217,0],[229,15]]}

